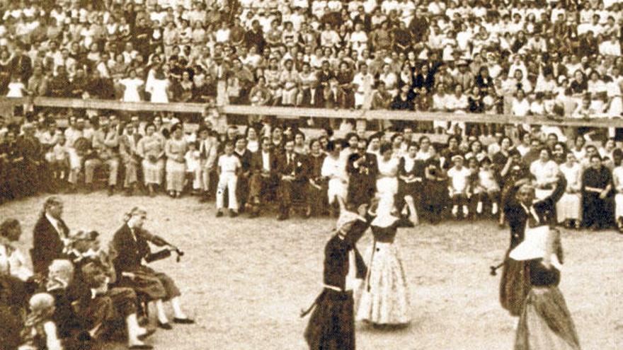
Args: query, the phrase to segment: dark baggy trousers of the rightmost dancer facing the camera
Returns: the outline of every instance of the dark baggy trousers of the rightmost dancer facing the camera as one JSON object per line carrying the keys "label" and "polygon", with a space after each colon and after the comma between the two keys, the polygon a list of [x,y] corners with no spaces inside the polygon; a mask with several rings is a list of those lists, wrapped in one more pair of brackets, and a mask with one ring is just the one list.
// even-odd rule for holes
{"label": "dark baggy trousers of the rightmost dancer facing the camera", "polygon": [[508,259],[500,279],[500,303],[510,315],[521,315],[523,304],[530,292],[530,264],[525,261]]}

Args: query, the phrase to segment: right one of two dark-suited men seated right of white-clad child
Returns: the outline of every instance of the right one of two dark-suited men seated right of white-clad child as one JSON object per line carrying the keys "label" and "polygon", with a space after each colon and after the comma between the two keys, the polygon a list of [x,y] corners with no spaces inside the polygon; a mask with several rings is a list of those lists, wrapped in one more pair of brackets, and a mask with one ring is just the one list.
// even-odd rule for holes
{"label": "right one of two dark-suited men seated right of white-clad child", "polygon": [[290,215],[292,192],[295,189],[300,191],[307,183],[307,160],[304,156],[295,153],[295,141],[293,139],[285,141],[285,152],[279,154],[276,158],[279,176],[278,220],[285,220]]}

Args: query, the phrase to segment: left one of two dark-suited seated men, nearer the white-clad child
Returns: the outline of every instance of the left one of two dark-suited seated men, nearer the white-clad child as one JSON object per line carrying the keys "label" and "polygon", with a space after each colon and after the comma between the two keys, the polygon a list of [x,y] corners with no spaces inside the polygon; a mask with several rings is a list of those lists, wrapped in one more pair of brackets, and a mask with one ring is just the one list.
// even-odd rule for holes
{"label": "left one of two dark-suited seated men, nearer the white-clad child", "polygon": [[263,195],[275,187],[277,180],[277,160],[272,145],[270,137],[263,137],[261,149],[251,158],[248,204],[252,218],[259,215]]}

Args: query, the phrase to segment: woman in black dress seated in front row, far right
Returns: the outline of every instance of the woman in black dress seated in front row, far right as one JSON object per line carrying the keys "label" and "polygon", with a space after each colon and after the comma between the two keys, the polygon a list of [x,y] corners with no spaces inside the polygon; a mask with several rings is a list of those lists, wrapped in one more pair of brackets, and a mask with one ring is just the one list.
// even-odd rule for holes
{"label": "woman in black dress seated in front row, far right", "polygon": [[593,231],[610,228],[615,220],[614,192],[610,169],[602,165],[600,156],[590,156],[590,168],[582,174],[582,206],[584,226]]}

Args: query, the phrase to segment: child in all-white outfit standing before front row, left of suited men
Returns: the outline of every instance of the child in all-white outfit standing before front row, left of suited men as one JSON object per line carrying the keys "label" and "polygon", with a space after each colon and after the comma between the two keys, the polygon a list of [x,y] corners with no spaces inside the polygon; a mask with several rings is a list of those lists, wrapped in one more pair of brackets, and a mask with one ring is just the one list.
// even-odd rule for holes
{"label": "child in all-white outfit standing before front row, left of suited men", "polygon": [[228,141],[225,144],[225,153],[219,157],[219,185],[217,188],[217,217],[223,216],[225,189],[229,197],[229,216],[238,216],[238,199],[236,198],[236,184],[238,172],[242,168],[240,159],[234,155],[234,144]]}

